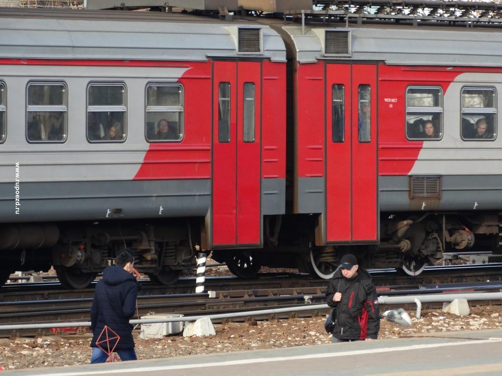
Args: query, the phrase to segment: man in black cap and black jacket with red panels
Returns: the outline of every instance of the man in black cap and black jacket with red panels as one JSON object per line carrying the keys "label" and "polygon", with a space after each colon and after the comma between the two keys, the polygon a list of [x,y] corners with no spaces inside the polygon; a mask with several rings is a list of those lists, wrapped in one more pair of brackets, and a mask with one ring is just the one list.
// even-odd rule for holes
{"label": "man in black cap and black jacket with red panels", "polygon": [[354,255],[344,255],[329,281],[326,301],[336,308],[333,343],[376,339],[380,330],[378,297],[369,273]]}

